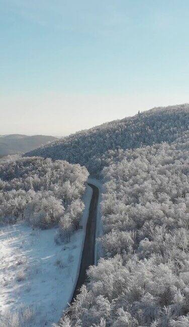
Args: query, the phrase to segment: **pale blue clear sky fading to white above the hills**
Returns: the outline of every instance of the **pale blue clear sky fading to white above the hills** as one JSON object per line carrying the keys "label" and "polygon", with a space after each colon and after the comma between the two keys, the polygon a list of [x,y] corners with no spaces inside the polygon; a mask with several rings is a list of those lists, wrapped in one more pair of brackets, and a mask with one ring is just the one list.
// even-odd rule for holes
{"label": "pale blue clear sky fading to white above the hills", "polygon": [[0,134],[189,102],[188,0],[0,0]]}

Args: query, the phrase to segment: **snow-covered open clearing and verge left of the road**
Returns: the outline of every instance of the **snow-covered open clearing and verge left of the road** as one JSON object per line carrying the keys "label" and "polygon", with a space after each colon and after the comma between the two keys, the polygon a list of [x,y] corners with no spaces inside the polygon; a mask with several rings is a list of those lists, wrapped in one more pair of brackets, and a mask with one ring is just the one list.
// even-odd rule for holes
{"label": "snow-covered open clearing and verge left of the road", "polygon": [[58,321],[77,282],[91,195],[87,186],[83,229],[71,237],[70,243],[57,245],[55,228],[32,230],[20,223],[1,229],[1,314],[29,306],[35,312],[30,326],[50,326]]}

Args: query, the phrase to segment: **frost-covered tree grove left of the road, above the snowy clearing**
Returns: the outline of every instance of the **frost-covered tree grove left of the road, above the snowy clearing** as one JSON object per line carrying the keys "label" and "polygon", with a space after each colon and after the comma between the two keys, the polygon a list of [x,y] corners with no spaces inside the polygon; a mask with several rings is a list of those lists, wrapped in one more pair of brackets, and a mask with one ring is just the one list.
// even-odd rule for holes
{"label": "frost-covered tree grove left of the road, above the snowy clearing", "polygon": [[59,224],[66,237],[77,229],[88,177],[84,167],[15,155],[0,160],[0,176],[0,223],[21,219],[43,229]]}

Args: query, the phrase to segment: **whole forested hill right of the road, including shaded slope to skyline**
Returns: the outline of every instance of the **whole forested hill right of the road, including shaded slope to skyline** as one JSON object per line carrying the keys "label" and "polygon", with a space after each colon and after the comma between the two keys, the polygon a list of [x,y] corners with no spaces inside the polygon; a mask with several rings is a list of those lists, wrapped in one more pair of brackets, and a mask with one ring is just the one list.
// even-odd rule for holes
{"label": "whole forested hill right of the road, including shaded slope to skyline", "polygon": [[105,182],[105,255],[61,327],[188,327],[188,127],[188,104],[154,108],[32,152]]}

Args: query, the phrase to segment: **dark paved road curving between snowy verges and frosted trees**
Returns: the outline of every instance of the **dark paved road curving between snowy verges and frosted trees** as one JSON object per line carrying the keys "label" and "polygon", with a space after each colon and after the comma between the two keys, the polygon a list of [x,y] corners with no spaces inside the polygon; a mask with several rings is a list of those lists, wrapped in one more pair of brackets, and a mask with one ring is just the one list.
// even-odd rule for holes
{"label": "dark paved road curving between snowy verges and frosted trees", "polygon": [[92,188],[92,198],[90,201],[88,220],[86,224],[86,235],[85,235],[84,247],[81,257],[79,277],[73,293],[71,303],[75,299],[76,295],[79,293],[79,289],[81,288],[82,284],[86,282],[87,268],[89,267],[89,265],[94,264],[94,242],[95,242],[96,212],[97,212],[97,204],[99,199],[99,189],[93,184],[88,183],[88,185]]}

